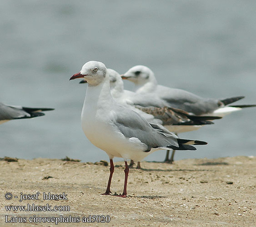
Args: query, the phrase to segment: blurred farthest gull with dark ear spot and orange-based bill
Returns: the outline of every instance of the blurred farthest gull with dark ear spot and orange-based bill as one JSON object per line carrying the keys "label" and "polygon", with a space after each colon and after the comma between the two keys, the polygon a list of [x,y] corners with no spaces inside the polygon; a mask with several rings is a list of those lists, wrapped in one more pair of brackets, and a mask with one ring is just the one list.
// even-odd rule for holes
{"label": "blurred farthest gull with dark ear spot and orange-based bill", "polygon": [[[230,105],[244,96],[231,97],[227,99],[202,98],[196,94],[182,89],[169,88],[157,84],[156,77],[151,69],[144,65],[136,65],[122,75],[122,79],[127,79],[136,85],[137,94],[154,94],[158,98],[166,101],[171,107],[185,110],[186,112],[199,116],[219,116],[239,111],[242,108],[254,107],[256,105]],[[169,129],[169,128],[168,128]],[[181,131],[171,130],[174,133]],[[185,132],[185,130],[184,130]],[[170,162],[173,162],[175,151],[172,152]],[[168,158],[166,156],[166,158]]]}

